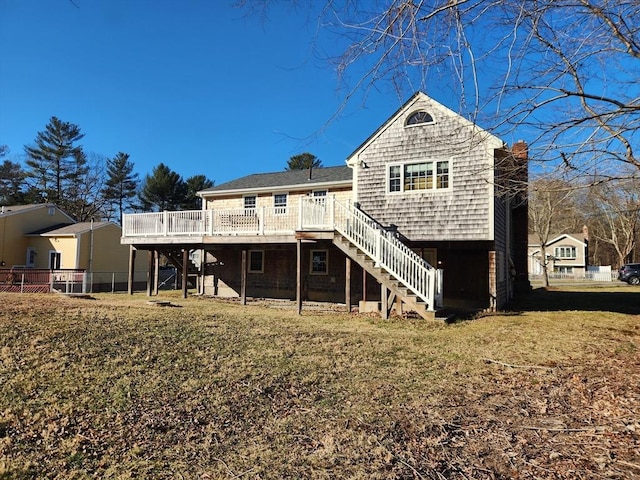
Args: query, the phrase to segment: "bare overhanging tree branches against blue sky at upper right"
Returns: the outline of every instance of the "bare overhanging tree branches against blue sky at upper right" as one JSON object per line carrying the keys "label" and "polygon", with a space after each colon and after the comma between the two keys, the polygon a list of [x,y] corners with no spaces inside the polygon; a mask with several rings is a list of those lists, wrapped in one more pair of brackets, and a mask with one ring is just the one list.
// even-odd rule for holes
{"label": "bare overhanging tree branches against blue sky at upper right", "polygon": [[[308,9],[345,102],[392,86],[459,98],[458,111],[573,178],[640,171],[637,0],[240,0]],[[320,42],[318,42],[318,45]],[[320,52],[318,52],[320,54]],[[364,93],[363,93],[364,92]]]}

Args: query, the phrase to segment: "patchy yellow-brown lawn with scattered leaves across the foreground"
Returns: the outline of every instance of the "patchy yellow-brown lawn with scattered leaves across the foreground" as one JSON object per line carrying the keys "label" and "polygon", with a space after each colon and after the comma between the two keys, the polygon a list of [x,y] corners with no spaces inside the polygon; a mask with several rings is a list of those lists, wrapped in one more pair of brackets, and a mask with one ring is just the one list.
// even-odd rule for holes
{"label": "patchy yellow-brown lawn with scattered leaves across the foreground", "polygon": [[160,298],[0,294],[0,478],[640,478],[640,289],[449,325]]}

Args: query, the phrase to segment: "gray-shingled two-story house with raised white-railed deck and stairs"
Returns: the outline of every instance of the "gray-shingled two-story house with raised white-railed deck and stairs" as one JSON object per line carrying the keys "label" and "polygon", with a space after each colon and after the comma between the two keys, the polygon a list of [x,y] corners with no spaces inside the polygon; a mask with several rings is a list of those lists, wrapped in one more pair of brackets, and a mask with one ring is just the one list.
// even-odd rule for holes
{"label": "gray-shingled two-story house with raised white-railed deck and stairs", "polygon": [[163,253],[189,275],[198,258],[202,293],[359,299],[383,315],[496,309],[527,283],[526,195],[512,188],[524,143],[418,92],[346,164],[239,178],[200,192],[200,211],[125,215],[122,242],[150,269]]}

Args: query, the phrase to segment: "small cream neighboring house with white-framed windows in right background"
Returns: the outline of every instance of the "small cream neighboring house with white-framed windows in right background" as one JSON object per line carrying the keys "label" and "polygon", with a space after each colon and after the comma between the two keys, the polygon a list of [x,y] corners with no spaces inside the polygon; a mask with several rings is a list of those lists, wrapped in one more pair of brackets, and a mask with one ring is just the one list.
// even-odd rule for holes
{"label": "small cream neighboring house with white-framed windows in right background", "polygon": [[[588,264],[589,235],[586,227],[582,233],[551,235],[546,245],[548,272],[584,277]],[[542,275],[542,248],[538,235],[529,235],[529,275]]]}

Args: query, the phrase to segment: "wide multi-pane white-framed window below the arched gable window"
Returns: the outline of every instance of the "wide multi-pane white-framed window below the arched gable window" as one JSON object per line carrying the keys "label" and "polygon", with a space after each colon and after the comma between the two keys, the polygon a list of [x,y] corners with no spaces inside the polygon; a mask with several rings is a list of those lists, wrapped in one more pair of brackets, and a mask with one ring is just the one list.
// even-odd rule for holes
{"label": "wide multi-pane white-framed window below the arched gable window", "polygon": [[387,189],[394,192],[449,188],[449,161],[425,161],[389,165]]}

